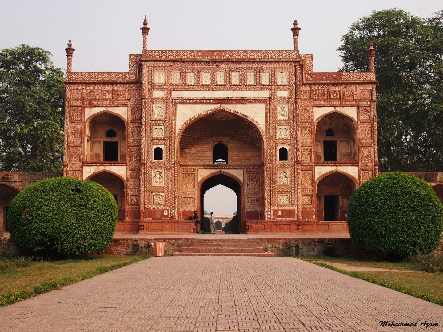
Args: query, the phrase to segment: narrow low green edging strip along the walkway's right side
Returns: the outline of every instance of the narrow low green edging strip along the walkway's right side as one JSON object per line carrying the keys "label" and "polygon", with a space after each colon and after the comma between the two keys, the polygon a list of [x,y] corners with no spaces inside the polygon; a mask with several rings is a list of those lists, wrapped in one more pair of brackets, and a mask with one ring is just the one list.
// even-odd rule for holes
{"label": "narrow low green edging strip along the walkway's right side", "polygon": [[327,269],[334,270],[334,271],[342,273],[342,274],[349,275],[350,277],[359,278],[359,279],[362,279],[362,280],[365,280],[368,282],[372,282],[373,284],[376,284],[376,285],[390,288],[391,290],[396,290],[397,292],[400,292],[400,293],[408,294],[413,297],[418,297],[418,298],[425,300],[425,301],[429,301],[429,302],[432,302],[432,303],[435,303],[438,305],[443,305],[443,300],[441,300],[439,297],[436,297],[435,295],[432,295],[429,293],[418,292],[418,291],[413,290],[409,287],[398,285],[396,283],[389,282],[389,281],[386,281],[386,280],[383,280],[380,278],[376,278],[376,277],[373,277],[373,276],[370,276],[368,274],[364,274],[361,272],[342,270],[342,269],[339,269],[339,268],[329,265],[329,264],[320,263],[320,262],[313,262],[309,259],[304,259],[301,257],[296,257],[296,258],[304,260],[304,261],[312,263],[312,264],[315,264],[315,265],[318,265],[318,266],[326,267]]}

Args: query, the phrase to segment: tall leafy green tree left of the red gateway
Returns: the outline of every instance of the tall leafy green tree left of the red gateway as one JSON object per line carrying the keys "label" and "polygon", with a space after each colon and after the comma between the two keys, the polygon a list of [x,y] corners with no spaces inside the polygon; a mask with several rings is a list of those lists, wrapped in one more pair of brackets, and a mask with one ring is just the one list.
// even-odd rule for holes
{"label": "tall leafy green tree left of the red gateway", "polygon": [[51,53],[0,50],[0,170],[58,171],[63,162],[63,72]]}

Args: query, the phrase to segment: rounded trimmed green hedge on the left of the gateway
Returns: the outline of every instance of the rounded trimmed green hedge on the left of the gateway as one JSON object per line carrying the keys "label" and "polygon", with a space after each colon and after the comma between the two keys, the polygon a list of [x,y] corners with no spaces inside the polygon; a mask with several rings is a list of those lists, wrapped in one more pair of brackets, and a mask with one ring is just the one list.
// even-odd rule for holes
{"label": "rounded trimmed green hedge on the left of the gateway", "polygon": [[97,182],[50,178],[14,197],[8,226],[22,251],[92,254],[108,247],[117,213],[113,195]]}

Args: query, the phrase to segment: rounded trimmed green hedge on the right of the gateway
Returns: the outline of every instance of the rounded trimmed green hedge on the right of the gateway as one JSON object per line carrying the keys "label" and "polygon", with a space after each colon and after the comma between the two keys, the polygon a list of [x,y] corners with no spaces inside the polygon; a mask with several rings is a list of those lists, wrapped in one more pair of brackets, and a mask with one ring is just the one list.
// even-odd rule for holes
{"label": "rounded trimmed green hedge on the right of the gateway", "polygon": [[442,205],[425,181],[396,172],[372,178],[349,200],[353,243],[390,260],[435,250],[442,234]]}

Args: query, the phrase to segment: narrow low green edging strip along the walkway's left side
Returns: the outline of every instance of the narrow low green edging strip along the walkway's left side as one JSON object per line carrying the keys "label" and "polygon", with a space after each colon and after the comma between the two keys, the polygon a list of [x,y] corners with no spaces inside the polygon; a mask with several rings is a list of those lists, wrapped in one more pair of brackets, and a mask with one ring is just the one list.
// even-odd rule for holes
{"label": "narrow low green edging strip along the walkway's left side", "polygon": [[10,305],[12,303],[26,300],[30,297],[50,292],[51,290],[58,290],[61,289],[64,286],[68,286],[70,284],[73,284],[75,282],[79,282],[88,278],[95,277],[99,274],[103,274],[112,270],[117,270],[120,267],[127,266],[132,263],[140,262],[141,260],[147,259],[152,257],[152,255],[146,255],[146,256],[136,256],[135,258],[132,258],[128,261],[112,264],[109,266],[98,266],[96,269],[82,273],[77,274],[74,277],[65,277],[61,278],[55,281],[51,282],[41,282],[39,285],[34,286],[30,290],[20,290],[17,292],[11,292],[6,295],[0,296],[0,307],[4,307],[5,305]]}

